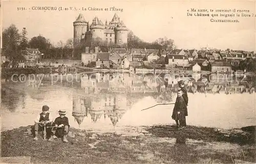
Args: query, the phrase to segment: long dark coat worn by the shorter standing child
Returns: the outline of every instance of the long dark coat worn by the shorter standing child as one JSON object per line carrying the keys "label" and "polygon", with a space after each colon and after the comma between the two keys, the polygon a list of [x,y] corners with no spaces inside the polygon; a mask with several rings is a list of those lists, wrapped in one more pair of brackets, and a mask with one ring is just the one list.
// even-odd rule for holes
{"label": "long dark coat worn by the shorter standing child", "polygon": [[[178,111],[180,112],[180,114],[178,114]],[[177,97],[175,105],[174,105],[172,119],[173,120],[184,120],[185,116],[186,116],[186,111],[187,111],[187,105],[186,105],[186,102],[184,101],[183,97]]]}

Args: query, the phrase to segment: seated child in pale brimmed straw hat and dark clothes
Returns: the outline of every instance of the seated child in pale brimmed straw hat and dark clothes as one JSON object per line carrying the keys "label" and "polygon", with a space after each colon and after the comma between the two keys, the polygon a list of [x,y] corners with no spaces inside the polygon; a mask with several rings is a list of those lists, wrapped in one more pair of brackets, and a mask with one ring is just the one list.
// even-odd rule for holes
{"label": "seated child in pale brimmed straw hat and dark clothes", "polygon": [[[67,134],[69,133],[69,119],[65,116],[66,111],[59,110],[59,117],[55,119],[55,131],[53,133],[58,135],[63,135],[63,142],[68,143]],[[52,139],[49,139],[51,141]]]}

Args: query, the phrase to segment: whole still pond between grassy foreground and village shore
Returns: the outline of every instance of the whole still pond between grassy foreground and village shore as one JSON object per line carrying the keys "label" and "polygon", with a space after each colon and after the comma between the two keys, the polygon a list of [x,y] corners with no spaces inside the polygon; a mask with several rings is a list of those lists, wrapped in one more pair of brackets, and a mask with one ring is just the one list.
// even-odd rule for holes
{"label": "whole still pond between grassy foreground and village shore", "polygon": [[[246,78],[242,77],[239,81],[235,81],[233,80],[234,76],[225,75],[222,78],[226,78],[226,80],[223,80],[216,76],[197,73],[180,76],[129,73],[40,74],[34,78],[32,76],[30,78],[28,76],[23,77],[23,82],[2,81],[3,111],[9,111],[13,115],[17,114],[19,116],[24,113],[38,114],[42,105],[49,104],[50,108],[56,109],[56,111],[62,108],[70,112],[68,116],[74,117],[72,122],[81,128],[85,128],[87,125],[97,126],[102,124],[110,124],[115,128],[115,126],[127,125],[130,122],[141,124],[170,123],[168,114],[173,106],[159,106],[159,108],[143,112],[140,112],[140,110],[157,103],[173,102],[176,98],[176,91],[179,89],[177,82],[180,79],[186,80],[185,86],[188,92],[191,93],[241,93],[246,91],[245,88],[254,86],[252,83],[254,77],[247,78],[246,83],[241,85],[241,80]],[[18,81],[18,79],[15,80]],[[193,116],[195,118],[198,115],[204,118],[203,115],[207,112],[216,112],[213,116],[220,120],[222,118],[220,113],[222,112],[219,113],[217,109],[232,114],[226,104],[232,106],[233,103],[236,103],[232,99],[241,99],[241,96],[234,98],[218,96],[203,99],[200,95],[202,94],[189,96],[191,100],[189,103],[189,109],[191,109],[189,118],[193,118]],[[250,98],[248,97],[248,99]],[[206,104],[212,103],[212,100],[220,102],[220,105],[218,107],[208,107]],[[246,101],[242,105],[245,103]],[[198,104],[200,104],[200,107]],[[197,113],[197,108],[205,110]],[[241,105],[239,108],[242,108]],[[239,115],[239,108],[236,110],[237,113],[233,113]],[[243,106],[243,108],[245,107]],[[250,106],[247,108],[252,109]],[[156,109],[161,109],[163,112]],[[243,114],[243,118],[246,119],[245,122],[250,121],[248,120],[248,114]],[[27,115],[27,119],[31,119],[30,117],[31,115]],[[146,117],[147,119],[141,119]],[[230,117],[229,121],[232,118],[236,121],[236,117]],[[208,120],[212,123],[214,119]],[[196,119],[190,120],[194,124],[196,121]],[[207,124],[207,122],[201,123],[202,120],[200,121],[200,119],[198,122],[200,122],[200,125]],[[20,126],[20,123],[17,124]],[[28,123],[26,122],[26,124]]]}

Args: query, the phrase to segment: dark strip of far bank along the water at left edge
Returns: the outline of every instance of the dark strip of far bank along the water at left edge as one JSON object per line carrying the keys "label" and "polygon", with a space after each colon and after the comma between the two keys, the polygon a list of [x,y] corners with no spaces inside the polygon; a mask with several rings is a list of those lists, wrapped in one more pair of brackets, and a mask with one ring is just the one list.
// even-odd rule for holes
{"label": "dark strip of far bank along the water at left edge", "polygon": [[51,68],[1,68],[2,71],[2,78],[3,77],[10,77],[13,74],[21,75],[29,75],[29,74],[49,74],[51,73]]}

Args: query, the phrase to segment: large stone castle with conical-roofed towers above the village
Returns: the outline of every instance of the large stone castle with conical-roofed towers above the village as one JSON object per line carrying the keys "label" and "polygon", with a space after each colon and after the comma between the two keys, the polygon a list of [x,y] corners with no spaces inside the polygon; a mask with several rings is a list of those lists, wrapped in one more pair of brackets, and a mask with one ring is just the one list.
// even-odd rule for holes
{"label": "large stone castle with conical-roofed towers above the village", "polygon": [[84,16],[80,13],[73,22],[73,26],[74,46],[80,42],[91,45],[93,42],[99,41],[97,39],[101,39],[106,44],[127,44],[128,29],[117,14],[110,22],[105,21],[105,24],[95,16],[89,26],[89,21],[84,19]]}

